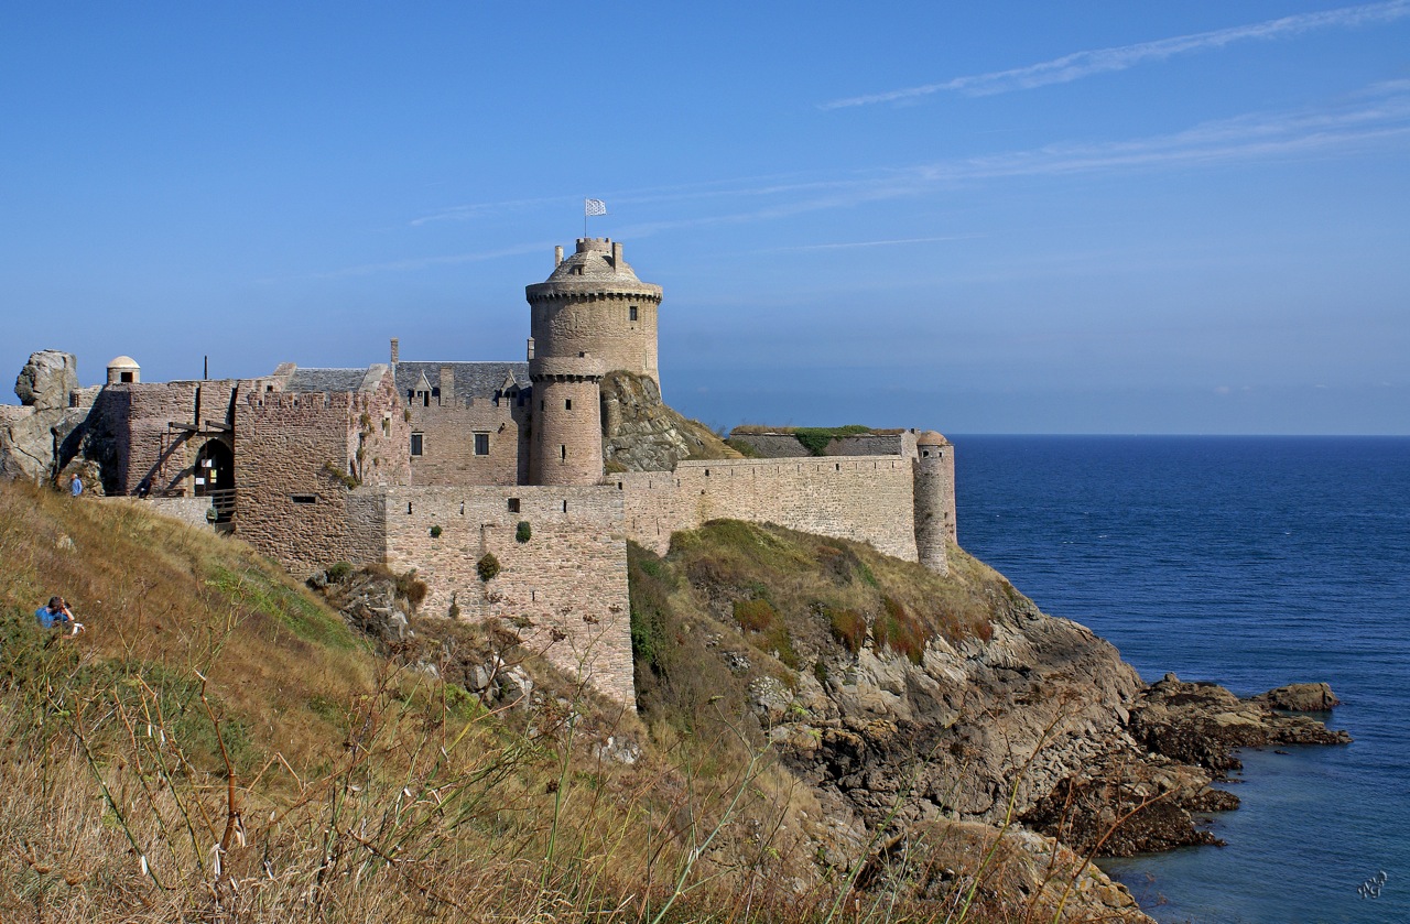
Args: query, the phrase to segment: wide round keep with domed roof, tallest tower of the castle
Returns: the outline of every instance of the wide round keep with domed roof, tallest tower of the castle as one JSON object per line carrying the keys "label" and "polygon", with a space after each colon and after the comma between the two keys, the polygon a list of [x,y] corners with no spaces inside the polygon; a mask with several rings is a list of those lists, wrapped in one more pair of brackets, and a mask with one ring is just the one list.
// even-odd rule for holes
{"label": "wide round keep with domed roof, tallest tower of the castle", "polygon": [[656,312],[661,286],[642,282],[622,258],[620,241],[578,238],[577,253],[558,247],[553,274],[525,289],[533,337],[530,357],[602,360],[661,384],[656,363]]}

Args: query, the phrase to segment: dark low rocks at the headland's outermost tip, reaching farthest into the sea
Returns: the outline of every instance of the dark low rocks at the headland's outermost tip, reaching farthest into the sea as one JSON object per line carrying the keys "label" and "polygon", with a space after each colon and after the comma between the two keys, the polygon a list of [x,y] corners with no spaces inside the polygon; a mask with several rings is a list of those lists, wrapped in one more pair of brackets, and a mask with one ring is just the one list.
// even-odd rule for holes
{"label": "dark low rocks at the headland's outermost tip, reaching farthest into the sea", "polygon": [[1149,750],[1217,774],[1244,766],[1238,748],[1351,743],[1345,731],[1306,715],[1280,715],[1268,701],[1239,700],[1218,684],[1183,683],[1175,674],[1142,693],[1131,708],[1131,734]]}

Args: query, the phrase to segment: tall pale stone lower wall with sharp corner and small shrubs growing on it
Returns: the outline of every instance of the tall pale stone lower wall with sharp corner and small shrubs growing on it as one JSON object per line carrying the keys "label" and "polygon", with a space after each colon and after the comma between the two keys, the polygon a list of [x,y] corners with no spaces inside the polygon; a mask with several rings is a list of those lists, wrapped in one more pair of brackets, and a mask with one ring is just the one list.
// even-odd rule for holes
{"label": "tall pale stone lower wall with sharp corner and small shrubs growing on it", "polygon": [[[530,537],[519,542],[519,522]],[[440,528],[433,536],[433,528]],[[515,625],[570,677],[634,703],[622,492],[615,487],[410,487],[385,492],[386,564],[416,569],[423,611]],[[477,563],[494,553],[499,574]]]}

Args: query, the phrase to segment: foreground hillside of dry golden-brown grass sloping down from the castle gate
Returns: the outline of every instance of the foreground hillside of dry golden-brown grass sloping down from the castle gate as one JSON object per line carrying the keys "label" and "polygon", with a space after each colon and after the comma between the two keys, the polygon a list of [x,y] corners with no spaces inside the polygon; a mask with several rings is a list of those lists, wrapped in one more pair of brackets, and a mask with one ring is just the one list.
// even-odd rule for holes
{"label": "foreground hillside of dry golden-brown grass sloping down from the castle gate", "polygon": [[[532,652],[499,646],[533,700],[486,707],[378,659],[235,540],[20,484],[0,482],[0,920],[773,920],[826,901],[780,831],[809,803],[770,755],[653,745]],[[35,626],[51,594],[85,635]],[[776,901],[781,882],[802,892]]]}

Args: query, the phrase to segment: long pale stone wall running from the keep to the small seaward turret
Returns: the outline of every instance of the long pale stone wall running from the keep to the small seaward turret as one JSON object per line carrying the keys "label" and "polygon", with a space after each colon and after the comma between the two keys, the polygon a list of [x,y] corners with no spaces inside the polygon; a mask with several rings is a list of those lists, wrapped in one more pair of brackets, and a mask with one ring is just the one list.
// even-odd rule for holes
{"label": "long pale stone wall running from the keep to the small seaward turret", "polygon": [[916,560],[914,463],[900,456],[682,461],[674,473],[622,473],[627,535],[664,553],[671,533],[711,519],[767,522],[871,543]]}

